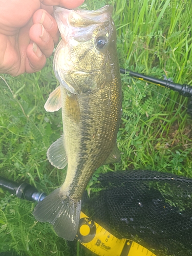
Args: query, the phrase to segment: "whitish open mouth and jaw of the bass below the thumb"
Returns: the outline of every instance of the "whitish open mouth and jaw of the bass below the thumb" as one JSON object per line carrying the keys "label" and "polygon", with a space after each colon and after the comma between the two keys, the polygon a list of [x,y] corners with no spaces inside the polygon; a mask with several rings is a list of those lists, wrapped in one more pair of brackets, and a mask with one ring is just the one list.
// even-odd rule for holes
{"label": "whitish open mouth and jaw of the bass below the thumb", "polygon": [[68,10],[54,7],[56,19],[61,38],[66,43],[70,37],[77,41],[87,41],[92,38],[93,30],[103,23],[109,23],[113,6],[106,5],[99,10],[88,11],[83,9]]}

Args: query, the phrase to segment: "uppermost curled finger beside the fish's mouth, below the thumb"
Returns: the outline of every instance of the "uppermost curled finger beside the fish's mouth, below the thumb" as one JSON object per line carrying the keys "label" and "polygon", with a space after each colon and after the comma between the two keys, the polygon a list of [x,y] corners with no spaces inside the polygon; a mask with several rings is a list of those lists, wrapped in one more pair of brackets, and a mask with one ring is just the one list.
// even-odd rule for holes
{"label": "uppermost curled finger beside the fish's mouth, below the thumb", "polygon": [[54,43],[57,44],[60,35],[57,28],[57,23],[55,19],[49,13],[47,13],[47,11],[43,9],[37,10],[33,14],[33,24],[42,24],[42,26],[44,26],[46,31],[53,38]]}

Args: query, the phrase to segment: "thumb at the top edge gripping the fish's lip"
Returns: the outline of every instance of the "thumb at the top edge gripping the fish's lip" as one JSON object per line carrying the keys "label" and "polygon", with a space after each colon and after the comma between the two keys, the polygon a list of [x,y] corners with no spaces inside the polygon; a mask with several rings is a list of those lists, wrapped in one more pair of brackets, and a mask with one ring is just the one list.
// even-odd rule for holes
{"label": "thumb at the top edge gripping the fish's lip", "polygon": [[73,9],[82,5],[84,0],[41,0],[40,2],[44,5],[59,5],[68,9]]}

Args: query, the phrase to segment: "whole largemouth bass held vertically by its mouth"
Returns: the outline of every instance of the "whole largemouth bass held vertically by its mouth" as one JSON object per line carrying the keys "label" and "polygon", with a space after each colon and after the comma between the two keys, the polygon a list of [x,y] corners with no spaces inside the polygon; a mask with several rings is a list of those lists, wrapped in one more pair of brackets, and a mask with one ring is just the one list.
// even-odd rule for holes
{"label": "whole largemouth bass held vertically by its mouth", "polygon": [[54,9],[61,34],[53,69],[60,82],[45,104],[61,108],[63,135],[47,157],[57,168],[67,164],[65,182],[34,209],[39,222],[50,222],[59,237],[73,241],[81,197],[95,170],[120,161],[117,132],[121,119],[121,79],[113,6],[98,10]]}

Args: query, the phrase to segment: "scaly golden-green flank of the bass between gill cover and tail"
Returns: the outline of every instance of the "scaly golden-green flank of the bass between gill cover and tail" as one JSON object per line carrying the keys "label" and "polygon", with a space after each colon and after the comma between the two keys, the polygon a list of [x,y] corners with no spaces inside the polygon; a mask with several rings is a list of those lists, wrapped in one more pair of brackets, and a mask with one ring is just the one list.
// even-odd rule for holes
{"label": "scaly golden-green flank of the bass between gill cover and tail", "polygon": [[[65,106],[62,108],[63,132],[69,156],[68,173],[63,187],[68,184],[70,196],[74,198],[82,195],[90,176],[113,150],[120,119],[121,90],[117,86],[119,79],[114,78],[111,84],[106,84],[103,89],[90,94],[86,99],[77,96],[81,113],[79,122],[74,122],[68,116]],[[66,102],[68,95],[64,88],[62,95]]]}

